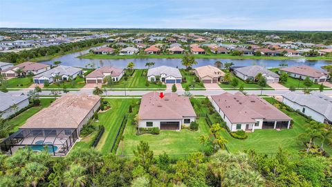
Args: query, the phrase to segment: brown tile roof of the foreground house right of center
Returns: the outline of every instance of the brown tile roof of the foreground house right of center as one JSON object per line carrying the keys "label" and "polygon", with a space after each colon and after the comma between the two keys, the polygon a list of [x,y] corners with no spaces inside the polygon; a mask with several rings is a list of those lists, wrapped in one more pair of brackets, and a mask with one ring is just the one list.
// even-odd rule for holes
{"label": "brown tile roof of the foreground house right of center", "polygon": [[228,92],[211,96],[231,123],[255,123],[255,118],[270,121],[291,120],[283,112],[258,96],[244,96],[241,92]]}

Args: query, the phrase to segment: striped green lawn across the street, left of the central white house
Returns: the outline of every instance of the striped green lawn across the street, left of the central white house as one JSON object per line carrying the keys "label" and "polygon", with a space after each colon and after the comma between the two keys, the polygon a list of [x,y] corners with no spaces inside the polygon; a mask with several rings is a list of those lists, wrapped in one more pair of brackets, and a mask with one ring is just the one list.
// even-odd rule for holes
{"label": "striped green lawn across the street, left of the central white house", "polygon": [[158,86],[157,84],[150,83],[149,87],[145,85],[147,82],[147,69],[136,69],[133,75],[128,77],[128,80],[124,80],[124,77],[121,78],[118,82],[113,82],[113,85],[108,86],[107,84],[103,84],[102,87],[107,88],[136,88],[136,89],[146,89],[146,88],[158,88],[165,89],[166,85],[162,84]]}

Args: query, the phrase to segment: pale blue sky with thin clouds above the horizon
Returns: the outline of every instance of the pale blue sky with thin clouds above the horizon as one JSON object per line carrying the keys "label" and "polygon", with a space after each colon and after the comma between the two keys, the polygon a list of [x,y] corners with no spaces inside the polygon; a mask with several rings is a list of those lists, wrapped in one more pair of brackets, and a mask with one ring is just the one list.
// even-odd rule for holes
{"label": "pale blue sky with thin clouds above the horizon", "polygon": [[0,27],[332,30],[332,0],[0,0]]}

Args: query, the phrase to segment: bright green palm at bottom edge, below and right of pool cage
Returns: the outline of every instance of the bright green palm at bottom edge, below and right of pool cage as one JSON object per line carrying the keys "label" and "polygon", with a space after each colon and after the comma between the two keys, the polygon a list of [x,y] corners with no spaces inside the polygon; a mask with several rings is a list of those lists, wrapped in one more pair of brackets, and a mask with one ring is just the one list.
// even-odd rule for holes
{"label": "bright green palm at bottom edge, below and right of pool cage", "polygon": [[67,187],[85,186],[88,177],[84,174],[86,168],[80,164],[73,164],[68,171],[64,172],[64,184]]}

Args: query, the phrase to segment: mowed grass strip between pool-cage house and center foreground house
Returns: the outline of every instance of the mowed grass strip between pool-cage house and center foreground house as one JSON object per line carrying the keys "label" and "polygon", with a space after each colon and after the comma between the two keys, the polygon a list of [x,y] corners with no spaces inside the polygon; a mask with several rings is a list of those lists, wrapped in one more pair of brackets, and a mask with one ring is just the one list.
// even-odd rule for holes
{"label": "mowed grass strip between pool-cage house and center foreground house", "polygon": [[105,127],[105,132],[96,147],[103,154],[111,151],[111,146],[116,139],[116,133],[120,128],[122,118],[128,113],[129,105],[138,101],[136,99],[105,100],[109,102],[111,109],[107,112],[99,113],[99,122],[93,123],[93,125],[104,125]]}

